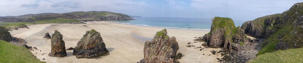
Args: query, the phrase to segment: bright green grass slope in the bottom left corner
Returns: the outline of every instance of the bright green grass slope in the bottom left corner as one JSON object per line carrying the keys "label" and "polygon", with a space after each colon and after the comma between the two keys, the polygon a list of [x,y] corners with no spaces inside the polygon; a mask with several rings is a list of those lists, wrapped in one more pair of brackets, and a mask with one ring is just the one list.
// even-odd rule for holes
{"label": "bright green grass slope in the bottom left corner", "polygon": [[27,48],[0,40],[0,63],[46,63],[37,59]]}

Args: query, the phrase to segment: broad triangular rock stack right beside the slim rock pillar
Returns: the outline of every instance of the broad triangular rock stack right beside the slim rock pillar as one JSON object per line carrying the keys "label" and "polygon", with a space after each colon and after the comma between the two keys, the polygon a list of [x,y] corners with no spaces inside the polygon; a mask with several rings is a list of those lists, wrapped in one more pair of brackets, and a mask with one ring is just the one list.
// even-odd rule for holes
{"label": "broad triangular rock stack right beside the slim rock pillar", "polygon": [[77,58],[98,59],[109,55],[100,33],[95,30],[86,31],[86,34],[77,43],[73,55]]}

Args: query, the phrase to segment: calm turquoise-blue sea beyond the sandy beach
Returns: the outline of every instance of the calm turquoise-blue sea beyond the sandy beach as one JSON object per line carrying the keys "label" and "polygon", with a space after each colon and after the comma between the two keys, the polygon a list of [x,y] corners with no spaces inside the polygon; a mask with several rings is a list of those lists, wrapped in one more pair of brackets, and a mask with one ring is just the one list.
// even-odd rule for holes
{"label": "calm turquoise-blue sea beyond the sandy beach", "polygon": [[[146,27],[162,27],[170,29],[185,30],[210,30],[211,19],[187,19],[187,18],[133,18],[135,20],[126,21],[109,21],[114,23],[146,26]],[[235,21],[235,26],[241,26],[242,23]]]}

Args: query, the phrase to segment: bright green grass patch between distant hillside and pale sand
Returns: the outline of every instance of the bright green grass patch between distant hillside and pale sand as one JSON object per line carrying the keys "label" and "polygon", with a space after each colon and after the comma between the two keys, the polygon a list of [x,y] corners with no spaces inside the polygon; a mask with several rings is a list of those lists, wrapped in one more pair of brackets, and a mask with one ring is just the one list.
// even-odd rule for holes
{"label": "bright green grass patch between distant hillside and pale sand", "polygon": [[63,18],[57,18],[57,19],[49,19],[49,20],[42,20],[42,21],[35,21],[37,24],[47,24],[47,23],[70,23],[70,22],[79,22],[72,19],[63,19]]}

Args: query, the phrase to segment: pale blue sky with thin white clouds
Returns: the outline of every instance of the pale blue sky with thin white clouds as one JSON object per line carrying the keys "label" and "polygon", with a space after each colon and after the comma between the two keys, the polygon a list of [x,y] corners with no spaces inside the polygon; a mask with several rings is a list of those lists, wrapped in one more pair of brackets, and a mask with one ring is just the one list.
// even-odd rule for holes
{"label": "pale blue sky with thin white clouds", "polygon": [[109,11],[131,16],[250,21],[282,13],[301,0],[1,0],[0,16]]}

